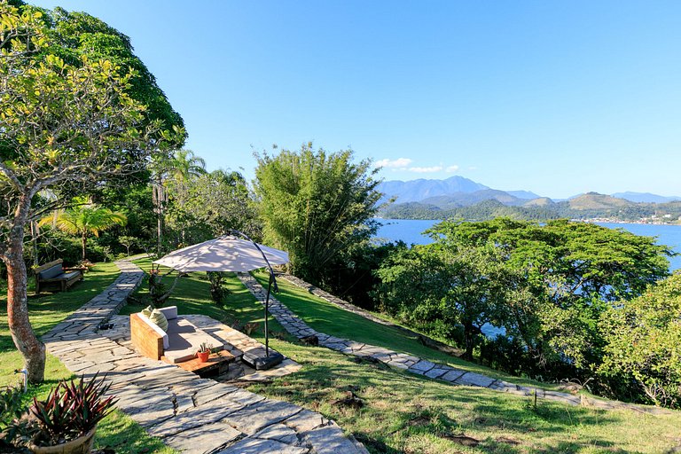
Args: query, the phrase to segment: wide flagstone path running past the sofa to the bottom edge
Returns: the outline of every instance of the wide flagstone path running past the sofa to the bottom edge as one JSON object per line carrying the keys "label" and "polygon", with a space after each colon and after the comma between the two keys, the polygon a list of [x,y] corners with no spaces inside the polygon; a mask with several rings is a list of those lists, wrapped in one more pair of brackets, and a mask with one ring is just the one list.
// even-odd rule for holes
{"label": "wide flagstone path running past the sofa to the bottom edge", "polygon": [[114,283],[45,334],[43,341],[71,372],[85,377],[106,372],[112,382],[110,393],[119,399],[117,407],[149,434],[192,453],[368,452],[319,413],[200,379],[106,337],[106,331],[114,332],[100,332],[98,327],[115,316],[144,276],[129,261],[116,265],[121,275]]}

